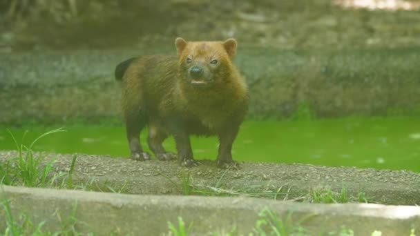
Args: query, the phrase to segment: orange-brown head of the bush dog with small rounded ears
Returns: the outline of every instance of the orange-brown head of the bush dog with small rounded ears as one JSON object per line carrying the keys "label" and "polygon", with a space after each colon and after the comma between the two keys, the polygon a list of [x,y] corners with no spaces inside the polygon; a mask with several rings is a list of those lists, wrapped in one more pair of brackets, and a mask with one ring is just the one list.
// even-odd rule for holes
{"label": "orange-brown head of the bush dog with small rounded ears", "polygon": [[175,46],[182,79],[194,88],[211,88],[230,78],[238,46],[235,39],[187,42],[177,38]]}

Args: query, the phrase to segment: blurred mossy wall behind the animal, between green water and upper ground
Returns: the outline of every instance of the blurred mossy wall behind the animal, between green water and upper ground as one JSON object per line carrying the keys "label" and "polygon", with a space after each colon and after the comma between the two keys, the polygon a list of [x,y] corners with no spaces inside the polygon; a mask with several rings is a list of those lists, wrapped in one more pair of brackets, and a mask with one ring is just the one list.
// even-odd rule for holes
{"label": "blurred mossy wall behind the animal, between green water and upper ground", "polygon": [[[21,52],[0,57],[0,124],[120,119],[115,65],[132,56],[175,55],[171,45],[144,50]],[[235,62],[249,83],[251,119],[419,115],[419,52],[418,47],[340,51],[240,48]]]}

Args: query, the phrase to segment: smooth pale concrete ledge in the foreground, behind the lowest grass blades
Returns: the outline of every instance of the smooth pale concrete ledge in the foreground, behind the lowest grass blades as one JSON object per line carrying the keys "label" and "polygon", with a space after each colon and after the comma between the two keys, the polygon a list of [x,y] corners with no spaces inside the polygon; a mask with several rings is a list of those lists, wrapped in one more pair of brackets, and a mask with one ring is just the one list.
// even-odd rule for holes
{"label": "smooth pale concrete ledge in the foreground, behind the lowest grass blades", "polygon": [[[75,228],[97,235],[162,235],[167,222],[193,222],[193,235],[229,232],[236,225],[238,234],[248,234],[256,225],[258,213],[269,208],[280,219],[292,222],[318,234],[352,228],[355,235],[409,235],[420,230],[420,207],[383,206],[378,204],[302,204],[267,199],[233,197],[179,197],[155,195],[121,195],[2,186],[0,197],[10,201],[13,215],[26,214],[34,224],[46,220],[44,230],[59,230],[77,204]],[[1,219],[6,219],[0,209]],[[60,223],[61,222],[61,223]],[[0,222],[5,228],[6,222]]]}

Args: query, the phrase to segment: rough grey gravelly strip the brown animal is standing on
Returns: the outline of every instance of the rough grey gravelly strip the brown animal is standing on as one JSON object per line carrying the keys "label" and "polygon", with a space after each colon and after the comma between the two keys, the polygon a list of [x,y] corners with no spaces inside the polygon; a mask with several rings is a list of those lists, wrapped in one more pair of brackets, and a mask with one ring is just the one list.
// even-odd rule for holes
{"label": "rough grey gravelly strip the brown animal is standing on", "polygon": [[[0,161],[17,157],[16,151],[0,151]],[[182,168],[177,161],[133,161],[97,155],[46,155],[55,158],[53,173],[68,172],[74,155],[73,173],[77,188],[120,191],[142,195],[181,195],[189,179],[193,194],[247,195],[299,201],[310,190],[345,186],[350,199],[365,193],[370,202],[420,204],[420,174],[406,170],[374,170],[348,167],[242,162],[238,170],[220,169],[215,161],[200,161],[194,168]],[[0,162],[0,163],[1,163]],[[112,189],[111,189],[112,188]],[[202,193],[204,192],[204,193]]]}

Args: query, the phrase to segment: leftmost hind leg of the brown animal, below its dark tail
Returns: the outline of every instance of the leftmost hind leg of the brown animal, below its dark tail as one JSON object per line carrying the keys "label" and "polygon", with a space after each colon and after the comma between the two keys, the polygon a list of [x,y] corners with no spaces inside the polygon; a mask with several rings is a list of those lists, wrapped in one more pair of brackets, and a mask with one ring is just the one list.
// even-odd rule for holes
{"label": "leftmost hind leg of the brown animal, below its dark tail", "polygon": [[144,112],[140,109],[131,110],[125,114],[126,132],[128,145],[130,146],[131,158],[136,161],[144,161],[150,159],[149,153],[144,152],[140,144],[140,132],[146,126],[147,119]]}

